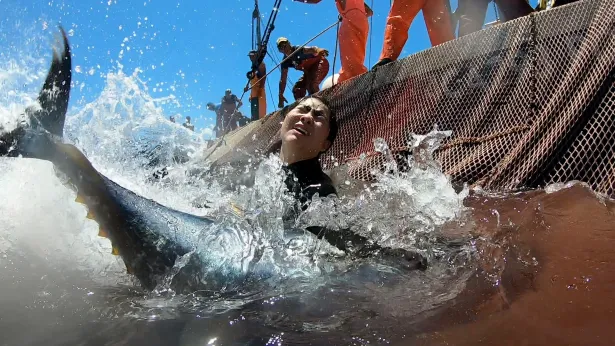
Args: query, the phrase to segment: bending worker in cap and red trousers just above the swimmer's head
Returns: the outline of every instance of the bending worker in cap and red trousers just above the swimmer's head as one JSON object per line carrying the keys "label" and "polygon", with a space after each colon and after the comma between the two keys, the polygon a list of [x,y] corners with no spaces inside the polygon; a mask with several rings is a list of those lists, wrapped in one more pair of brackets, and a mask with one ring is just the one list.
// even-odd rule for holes
{"label": "bending worker in cap and red trousers just above the swimmer's head", "polygon": [[278,38],[277,46],[280,53],[284,54],[283,59],[286,60],[281,65],[282,72],[278,96],[278,107],[282,108],[286,101],[284,89],[286,89],[288,69],[294,67],[303,71],[303,76],[293,86],[295,100],[305,97],[306,93],[309,95],[315,94],[320,90],[320,82],[329,73],[329,61],[327,60],[329,51],[318,47],[293,46],[286,37]]}

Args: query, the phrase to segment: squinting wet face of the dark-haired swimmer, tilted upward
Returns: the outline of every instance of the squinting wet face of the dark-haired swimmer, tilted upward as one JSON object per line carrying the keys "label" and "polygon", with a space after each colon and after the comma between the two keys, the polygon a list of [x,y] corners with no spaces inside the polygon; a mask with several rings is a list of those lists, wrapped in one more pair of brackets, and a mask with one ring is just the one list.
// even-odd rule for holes
{"label": "squinting wet face of the dark-haired swimmer, tilted upward", "polygon": [[331,146],[329,108],[316,98],[307,98],[293,108],[282,122],[282,152],[288,163],[318,156]]}

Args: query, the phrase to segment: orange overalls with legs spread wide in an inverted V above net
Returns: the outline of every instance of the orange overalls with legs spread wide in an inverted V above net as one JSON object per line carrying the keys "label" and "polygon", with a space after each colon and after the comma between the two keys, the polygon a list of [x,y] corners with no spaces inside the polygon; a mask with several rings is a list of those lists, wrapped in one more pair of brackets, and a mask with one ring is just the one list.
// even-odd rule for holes
{"label": "orange overalls with legs spread wide in an inverted V above net", "polygon": [[406,41],[414,17],[423,10],[425,25],[432,46],[455,39],[448,0],[393,0],[384,32],[380,60],[397,60]]}

